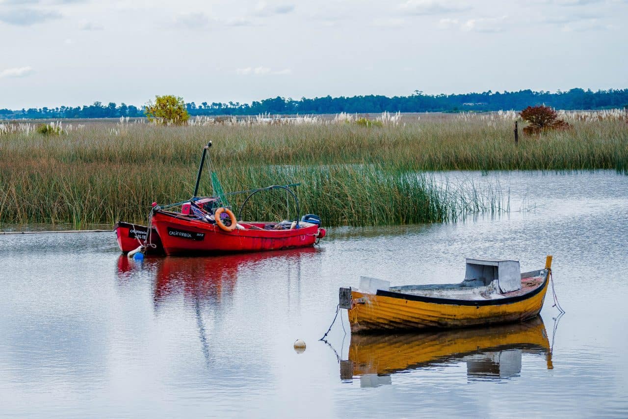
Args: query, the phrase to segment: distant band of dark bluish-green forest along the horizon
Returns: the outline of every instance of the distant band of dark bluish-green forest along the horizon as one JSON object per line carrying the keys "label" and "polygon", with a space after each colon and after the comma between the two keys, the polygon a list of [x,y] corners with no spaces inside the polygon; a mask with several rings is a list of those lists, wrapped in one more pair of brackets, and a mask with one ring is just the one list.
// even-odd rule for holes
{"label": "distant band of dark bluish-green forest along the horizon", "polygon": [[[526,106],[545,104],[555,109],[628,108],[628,89],[598,90],[571,89],[566,92],[482,92],[465,94],[428,95],[415,91],[410,96],[352,96],[299,100],[270,98],[248,103],[187,103],[190,115],[259,115],[259,114],[323,114],[323,113],[381,113],[389,112],[463,112],[521,110]],[[85,106],[58,108],[0,109],[0,119],[55,119],[55,118],[119,118],[144,116],[143,106],[94,102]]]}

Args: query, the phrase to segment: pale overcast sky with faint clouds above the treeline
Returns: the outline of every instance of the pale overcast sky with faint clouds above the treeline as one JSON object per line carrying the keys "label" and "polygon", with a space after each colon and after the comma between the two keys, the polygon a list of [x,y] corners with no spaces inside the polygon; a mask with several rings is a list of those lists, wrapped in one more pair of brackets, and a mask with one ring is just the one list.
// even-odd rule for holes
{"label": "pale overcast sky with faint clouds above the treeline", "polygon": [[626,0],[0,0],[0,108],[628,87]]}

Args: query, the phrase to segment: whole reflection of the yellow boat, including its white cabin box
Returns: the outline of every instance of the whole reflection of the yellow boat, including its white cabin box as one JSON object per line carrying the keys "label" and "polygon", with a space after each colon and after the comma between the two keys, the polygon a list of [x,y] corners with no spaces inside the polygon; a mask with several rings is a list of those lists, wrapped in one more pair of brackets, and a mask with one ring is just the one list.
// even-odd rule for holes
{"label": "whole reflection of the yellow boat, including its white cabin box", "polygon": [[466,362],[467,379],[519,376],[521,355],[544,355],[552,369],[548,335],[541,316],[524,323],[481,329],[401,335],[352,335],[349,359],[340,361],[340,379],[359,377],[361,387],[391,384],[391,374]]}

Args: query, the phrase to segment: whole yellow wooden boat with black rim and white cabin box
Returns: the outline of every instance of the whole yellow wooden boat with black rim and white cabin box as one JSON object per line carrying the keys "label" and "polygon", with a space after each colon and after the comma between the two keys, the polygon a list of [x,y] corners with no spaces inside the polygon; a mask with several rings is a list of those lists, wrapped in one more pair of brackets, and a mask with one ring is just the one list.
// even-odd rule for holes
{"label": "whole yellow wooden boat with black rim and white cabin box", "polygon": [[551,256],[544,269],[521,273],[517,260],[467,259],[458,284],[391,287],[360,277],[357,289],[340,288],[351,332],[460,328],[513,323],[539,314],[548,289]]}

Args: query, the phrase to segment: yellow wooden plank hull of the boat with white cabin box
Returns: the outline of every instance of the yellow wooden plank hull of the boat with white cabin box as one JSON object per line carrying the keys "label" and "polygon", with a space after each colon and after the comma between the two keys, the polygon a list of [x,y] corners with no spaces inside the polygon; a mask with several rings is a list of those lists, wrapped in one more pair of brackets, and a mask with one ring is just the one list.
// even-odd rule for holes
{"label": "yellow wooden plank hull of the boat with white cabin box", "polygon": [[537,316],[548,288],[549,270],[528,272],[542,275],[534,289],[502,299],[455,300],[378,290],[364,294],[351,290],[351,332],[393,329],[462,328],[512,323]]}

